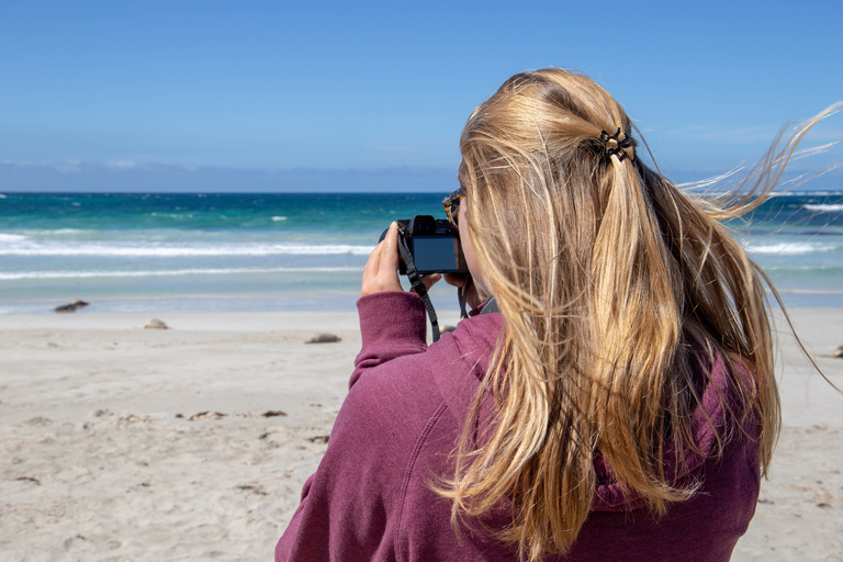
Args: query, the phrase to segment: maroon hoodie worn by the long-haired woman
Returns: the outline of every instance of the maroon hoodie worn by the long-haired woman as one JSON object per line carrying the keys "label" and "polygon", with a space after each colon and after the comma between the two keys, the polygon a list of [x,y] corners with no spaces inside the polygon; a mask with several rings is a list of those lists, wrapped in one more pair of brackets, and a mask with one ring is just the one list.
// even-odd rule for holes
{"label": "maroon hoodie worn by the long-haired woman", "polygon": [[[464,319],[428,347],[425,310],[414,293],[366,296],[358,310],[363,346],[350,391],[276,561],[517,561],[512,547],[476,522],[463,521],[456,533],[450,503],[430,491],[437,475],[452,474],[449,456],[486,372],[501,314]],[[592,513],[560,560],[729,560],[755,512],[758,450],[733,431],[723,454],[713,454],[712,426],[728,423],[720,396],[739,411],[743,405],[732,397],[722,361],[710,367],[712,382],[694,414],[702,454],[688,451],[677,474],[681,482],[701,481],[699,492],[656,519],[598,458]],[[494,406],[484,404],[481,416],[493,419]],[[505,525],[507,513],[485,522]]]}

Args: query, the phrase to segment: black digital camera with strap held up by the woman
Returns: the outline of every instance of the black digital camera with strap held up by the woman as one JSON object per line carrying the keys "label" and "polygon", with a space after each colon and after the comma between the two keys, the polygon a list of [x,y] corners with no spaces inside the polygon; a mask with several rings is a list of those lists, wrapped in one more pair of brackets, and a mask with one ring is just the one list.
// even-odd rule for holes
{"label": "black digital camera with strap held up by the woman", "polygon": [[[398,236],[406,239],[419,276],[468,272],[459,231],[451,223],[429,215],[416,215],[397,223]],[[386,236],[386,232],[383,231],[381,234],[381,240]],[[407,274],[407,266],[403,258],[398,272],[402,276]]]}

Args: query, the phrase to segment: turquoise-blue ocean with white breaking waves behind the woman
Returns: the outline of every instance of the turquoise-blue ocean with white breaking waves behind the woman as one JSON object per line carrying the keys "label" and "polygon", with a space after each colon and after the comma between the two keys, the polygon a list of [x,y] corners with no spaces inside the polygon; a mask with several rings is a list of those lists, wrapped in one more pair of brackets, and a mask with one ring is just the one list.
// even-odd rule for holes
{"label": "turquoise-blue ocean with white breaking waves behind the woman", "polygon": [[[0,194],[0,314],[353,310],[390,222],[445,193]],[[793,306],[843,306],[843,192],[791,192],[732,226]],[[441,285],[441,286],[439,286]],[[454,289],[432,291],[456,310]]]}

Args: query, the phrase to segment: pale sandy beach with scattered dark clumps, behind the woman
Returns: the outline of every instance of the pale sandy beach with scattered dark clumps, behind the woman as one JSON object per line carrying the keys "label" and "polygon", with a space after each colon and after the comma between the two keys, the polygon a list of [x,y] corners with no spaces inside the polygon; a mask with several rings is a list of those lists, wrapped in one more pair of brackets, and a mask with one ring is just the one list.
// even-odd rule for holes
{"label": "pale sandy beach with scattered dark clumps, behind the woman", "polygon": [[[843,311],[790,312],[843,387],[821,357]],[[843,395],[779,330],[784,430],[733,560],[843,561]],[[323,331],[341,341],[304,344]],[[5,315],[0,335],[1,561],[271,560],[360,348],[357,315],[328,312]]]}

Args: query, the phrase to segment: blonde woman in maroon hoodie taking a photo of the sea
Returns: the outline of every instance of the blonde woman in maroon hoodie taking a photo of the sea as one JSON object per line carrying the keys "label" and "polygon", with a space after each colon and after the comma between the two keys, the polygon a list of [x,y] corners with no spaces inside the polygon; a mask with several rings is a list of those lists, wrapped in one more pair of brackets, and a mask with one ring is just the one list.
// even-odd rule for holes
{"label": "blonde woman in maroon hoodie taking a photo of the sea", "polygon": [[752,203],[689,198],[631,133],[560,69],[474,111],[446,204],[499,312],[428,347],[391,227],[363,273],[350,392],[276,560],[730,558],[779,427],[763,274],[717,221]]}

